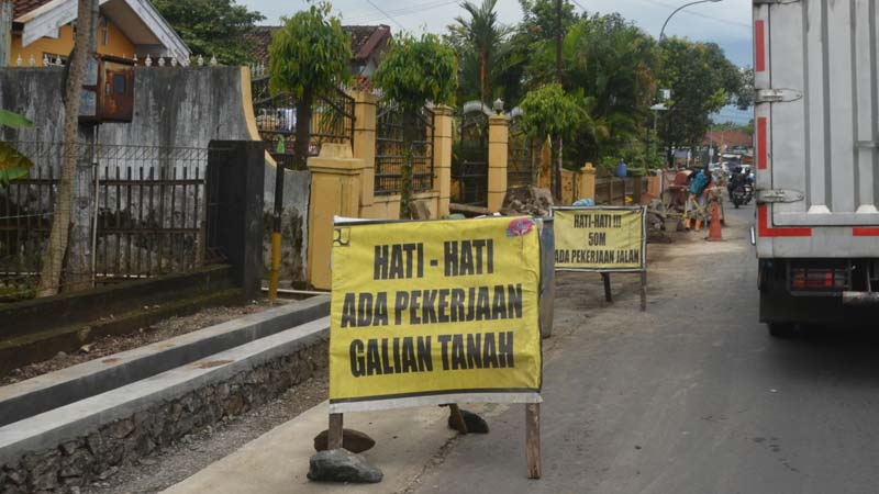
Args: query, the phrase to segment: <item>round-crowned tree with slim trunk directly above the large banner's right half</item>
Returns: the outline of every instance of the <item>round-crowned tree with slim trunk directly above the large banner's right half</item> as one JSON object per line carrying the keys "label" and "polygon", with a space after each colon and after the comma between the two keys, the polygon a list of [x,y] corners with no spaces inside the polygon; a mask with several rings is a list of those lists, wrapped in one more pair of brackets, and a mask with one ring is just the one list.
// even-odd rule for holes
{"label": "round-crowned tree with slim trunk directly above the large banner's right half", "polygon": [[394,40],[390,52],[372,75],[372,83],[396,101],[403,111],[403,166],[401,169],[400,218],[411,216],[412,146],[424,136],[415,135],[418,112],[425,102],[452,103],[457,89],[455,52],[434,34],[420,38],[404,34]]}

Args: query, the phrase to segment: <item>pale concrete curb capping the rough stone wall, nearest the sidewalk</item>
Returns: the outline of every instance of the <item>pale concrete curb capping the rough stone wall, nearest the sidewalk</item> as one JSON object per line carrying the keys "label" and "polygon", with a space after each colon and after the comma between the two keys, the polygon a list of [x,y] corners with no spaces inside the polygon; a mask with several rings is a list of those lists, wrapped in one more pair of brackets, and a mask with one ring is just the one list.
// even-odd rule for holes
{"label": "pale concrete curb capping the rough stone wall, nearest the sidewalk", "polygon": [[323,343],[329,338],[329,328],[330,317],[313,321],[0,427],[0,464],[16,464],[26,453],[57,448],[164,401],[198,391],[211,383],[230,380],[272,359]]}

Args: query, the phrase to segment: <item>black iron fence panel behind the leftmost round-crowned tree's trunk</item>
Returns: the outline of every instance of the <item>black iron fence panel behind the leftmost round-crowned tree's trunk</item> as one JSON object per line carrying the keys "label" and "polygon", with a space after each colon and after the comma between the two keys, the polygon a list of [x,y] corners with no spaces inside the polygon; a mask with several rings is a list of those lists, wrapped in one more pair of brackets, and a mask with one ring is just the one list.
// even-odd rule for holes
{"label": "black iron fence panel behind the leftmost round-crowned tree's trunk", "polygon": [[[272,158],[292,169],[297,98],[292,93],[272,96],[268,80],[262,77],[253,81],[256,126]],[[283,144],[279,145],[281,141]],[[354,143],[354,98],[341,89],[318,98],[312,108],[309,155],[316,156],[324,143]]]}

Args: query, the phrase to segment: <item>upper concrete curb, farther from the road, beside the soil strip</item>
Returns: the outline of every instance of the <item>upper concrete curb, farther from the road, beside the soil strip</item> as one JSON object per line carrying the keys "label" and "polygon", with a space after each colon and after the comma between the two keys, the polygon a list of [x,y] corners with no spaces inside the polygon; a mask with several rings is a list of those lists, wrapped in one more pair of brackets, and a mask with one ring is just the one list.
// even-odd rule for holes
{"label": "upper concrete curb, farther from the road, beside the soil strip", "polygon": [[329,313],[330,296],[314,296],[0,388],[0,427],[275,335]]}

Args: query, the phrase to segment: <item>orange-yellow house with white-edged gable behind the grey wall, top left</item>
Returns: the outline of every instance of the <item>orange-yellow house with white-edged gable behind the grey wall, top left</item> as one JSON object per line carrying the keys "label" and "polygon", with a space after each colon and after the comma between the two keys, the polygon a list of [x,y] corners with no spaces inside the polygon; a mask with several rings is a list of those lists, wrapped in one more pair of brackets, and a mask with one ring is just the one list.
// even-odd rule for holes
{"label": "orange-yellow house with white-edged gable behind the grey wall, top left", "polygon": [[[98,53],[144,59],[176,57],[186,64],[190,50],[149,0],[99,0]],[[42,65],[66,59],[74,48],[76,0],[14,0],[11,65]]]}

